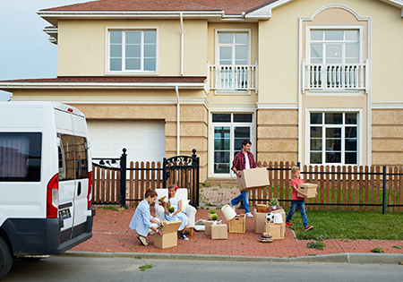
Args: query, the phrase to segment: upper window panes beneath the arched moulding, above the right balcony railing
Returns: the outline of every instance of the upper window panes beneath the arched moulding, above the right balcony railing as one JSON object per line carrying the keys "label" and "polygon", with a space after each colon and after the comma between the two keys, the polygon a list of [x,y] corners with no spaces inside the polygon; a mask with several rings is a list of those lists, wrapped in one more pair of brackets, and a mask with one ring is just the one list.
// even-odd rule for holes
{"label": "upper window panes beneath the arched moulding, above the right balcony railing", "polygon": [[359,30],[310,30],[311,64],[360,63]]}

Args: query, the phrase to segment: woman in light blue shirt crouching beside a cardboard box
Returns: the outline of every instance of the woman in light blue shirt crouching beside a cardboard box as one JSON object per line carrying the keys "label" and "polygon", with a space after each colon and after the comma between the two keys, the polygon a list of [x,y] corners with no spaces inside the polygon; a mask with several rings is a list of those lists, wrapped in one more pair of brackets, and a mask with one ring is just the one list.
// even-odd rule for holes
{"label": "woman in light blue shirt crouching beside a cardboard box", "polygon": [[159,218],[153,218],[150,214],[150,204],[157,200],[157,192],[148,189],[144,198],[134,211],[129,227],[137,232],[137,239],[142,245],[146,246],[149,244],[146,240],[147,235],[153,235],[154,233],[164,235],[164,232],[159,230]]}

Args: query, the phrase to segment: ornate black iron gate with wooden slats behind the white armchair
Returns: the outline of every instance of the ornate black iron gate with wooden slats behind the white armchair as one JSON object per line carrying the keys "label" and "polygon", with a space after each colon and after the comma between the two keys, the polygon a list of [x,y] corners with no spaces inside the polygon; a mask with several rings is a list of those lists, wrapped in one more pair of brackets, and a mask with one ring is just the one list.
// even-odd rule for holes
{"label": "ornate black iron gate with wooden slats behind the white armchair", "polygon": [[179,188],[187,188],[190,194],[190,204],[199,206],[199,178],[200,159],[193,149],[192,156],[176,156],[164,158],[164,182],[163,187],[169,184],[177,184]]}

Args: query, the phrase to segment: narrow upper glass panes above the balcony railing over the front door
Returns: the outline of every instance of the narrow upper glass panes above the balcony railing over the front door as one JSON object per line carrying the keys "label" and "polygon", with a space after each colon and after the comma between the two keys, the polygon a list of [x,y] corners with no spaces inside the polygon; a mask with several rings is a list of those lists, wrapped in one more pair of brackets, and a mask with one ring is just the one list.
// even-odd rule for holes
{"label": "narrow upper glass panes above the balcony railing over the front door", "polygon": [[219,64],[248,64],[247,32],[219,32]]}

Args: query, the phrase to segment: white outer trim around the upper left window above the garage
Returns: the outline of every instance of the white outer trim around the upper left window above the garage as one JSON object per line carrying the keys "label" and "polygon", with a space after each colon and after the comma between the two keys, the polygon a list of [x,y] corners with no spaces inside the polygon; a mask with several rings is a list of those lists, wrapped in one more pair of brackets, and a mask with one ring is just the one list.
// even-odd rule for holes
{"label": "white outer trim around the upper left window above the garage", "polygon": [[[110,68],[110,45],[109,45],[109,31],[121,30],[121,31],[144,31],[144,30],[156,30],[156,62],[155,72],[144,71],[109,71]],[[106,27],[105,28],[105,74],[107,75],[158,75],[159,74],[159,27]]]}

